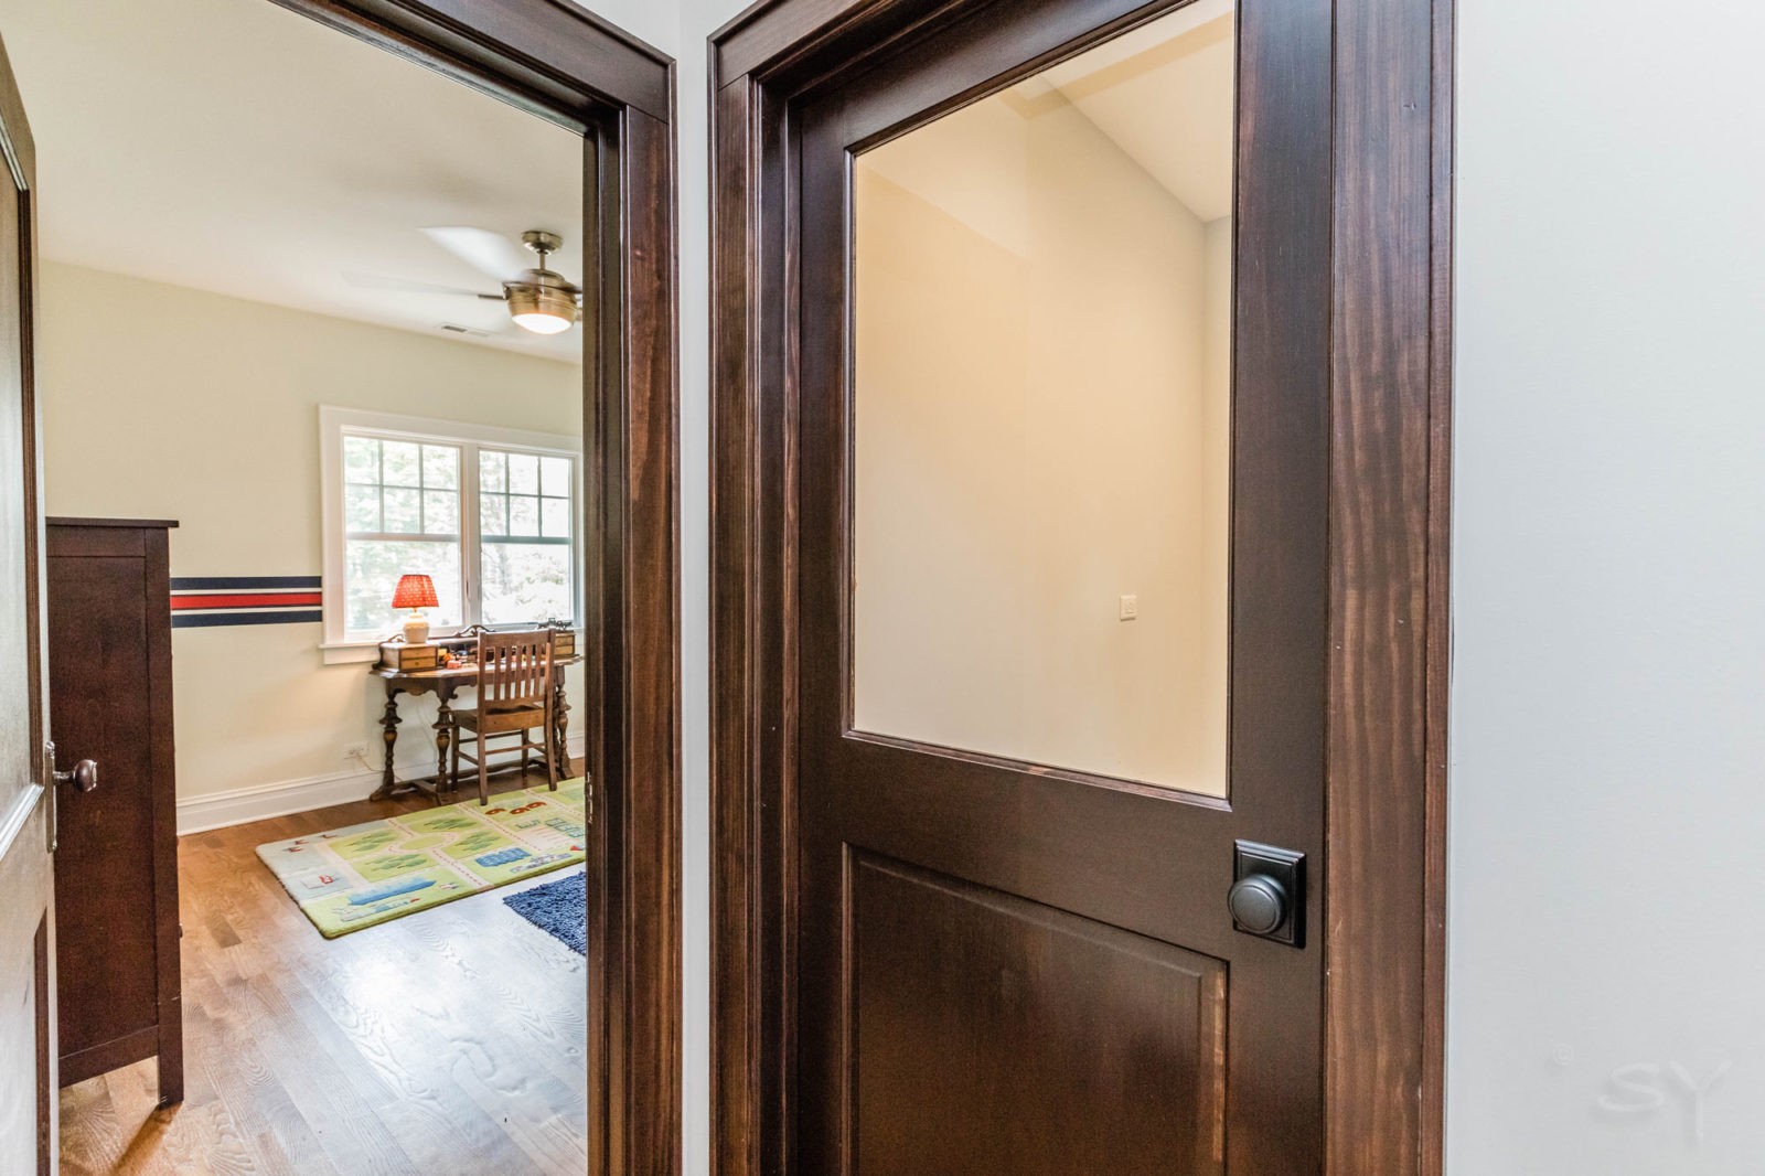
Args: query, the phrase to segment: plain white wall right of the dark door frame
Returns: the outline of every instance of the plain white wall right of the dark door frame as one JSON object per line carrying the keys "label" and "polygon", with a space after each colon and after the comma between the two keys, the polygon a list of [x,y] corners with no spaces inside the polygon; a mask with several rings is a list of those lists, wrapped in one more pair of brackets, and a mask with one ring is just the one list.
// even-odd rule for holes
{"label": "plain white wall right of the dark door frame", "polygon": [[1451,1172],[1761,1172],[1765,9],[1458,39]]}

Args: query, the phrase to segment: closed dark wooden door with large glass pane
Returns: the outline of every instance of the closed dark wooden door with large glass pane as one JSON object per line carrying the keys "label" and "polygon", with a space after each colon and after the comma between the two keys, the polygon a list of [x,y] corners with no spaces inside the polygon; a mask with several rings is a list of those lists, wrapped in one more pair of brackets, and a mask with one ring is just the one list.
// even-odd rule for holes
{"label": "closed dark wooden door with large glass pane", "polygon": [[[1107,685],[1068,692],[1040,722],[1010,727],[1017,735],[999,735],[1001,726],[964,740],[950,735],[960,724],[946,722],[950,710],[981,712],[999,701],[948,689],[976,660],[1017,659],[1018,669],[994,675],[985,694],[1036,692],[1089,673],[1084,643],[1101,650],[1124,634],[1151,632],[1128,625],[1156,620],[1128,620],[1145,600],[1131,604],[1123,592],[1121,622],[1115,597],[1105,602],[1107,623],[1119,629],[1089,629],[1077,645],[1045,632],[1047,618],[1061,613],[1024,611],[1018,597],[1096,570],[1084,547],[1087,528],[1073,519],[1107,519],[1107,503],[1093,514],[1070,510],[1066,500],[1085,498],[1093,486],[1061,482],[1071,471],[1047,438],[1027,473],[988,466],[995,450],[1022,443],[1011,440],[1015,431],[1041,411],[1029,399],[974,417],[981,424],[967,433],[953,433],[948,420],[969,411],[969,388],[999,369],[1020,366],[1031,381],[1038,366],[1064,364],[1066,390],[1055,387],[1054,396],[1066,399],[1055,411],[1077,452],[1080,434],[1105,427],[1087,401],[1114,392],[1114,350],[1177,323],[1163,311],[1145,313],[1149,304],[1105,267],[1064,316],[1017,335],[1027,360],[997,344],[990,320],[965,337],[939,334],[944,318],[971,314],[978,300],[1004,304],[1017,286],[1040,281],[1010,268],[1033,245],[1047,245],[1024,244],[1025,233],[1052,233],[1059,240],[1050,251],[1082,254],[1070,261],[1078,274],[1101,245],[1070,245],[1107,233],[1130,208],[1107,194],[1075,201],[1063,189],[1061,215],[1073,215],[1075,203],[1084,214],[1070,230],[1047,228],[1036,208],[1017,228],[981,224],[973,237],[988,240],[974,249],[1010,263],[981,281],[958,272],[967,263],[951,256],[967,249],[957,224],[974,221],[965,201],[999,168],[973,171],[973,182],[920,201],[920,224],[943,233],[934,244],[904,235],[867,242],[872,230],[856,207],[870,200],[867,191],[893,200],[923,187],[935,170],[921,152],[879,164],[886,177],[875,180],[865,170],[867,152],[905,143],[946,115],[983,127],[995,117],[980,109],[980,99],[994,94],[1010,108],[995,120],[1010,122],[1013,111],[1075,125],[1103,120],[1080,127],[1096,143],[1089,154],[1038,162],[1031,145],[1011,155],[1027,161],[1025,175],[1059,185],[1117,168],[1110,152],[1126,150],[1130,136],[1112,127],[1103,136],[1110,143],[1098,139],[1093,131],[1108,125],[1107,111],[1089,97],[1110,78],[1151,71],[1188,49],[1154,49],[1140,64],[1098,58],[1114,71],[1101,81],[1043,71],[1080,49],[1108,51],[1115,34],[1168,16],[1175,16],[1170,5],[992,5],[792,108],[801,291],[798,1171],[1290,1176],[1322,1167],[1322,936],[1304,931],[1324,913],[1331,115],[1318,95],[1329,92],[1329,5],[1246,0],[1230,34],[1237,106],[1227,134],[1236,187],[1225,249],[1236,277],[1227,298],[1230,494],[1218,507],[1221,535],[1228,533],[1220,609],[1230,637],[1218,669],[1227,696],[1218,717],[1221,795],[1110,770],[1128,759],[1108,735],[1110,708],[1131,706],[1137,696],[1105,697]],[[1105,65],[1098,69],[1107,72]],[[1174,122],[1179,113],[1153,111],[1154,138],[1160,118]],[[941,159],[955,162],[935,166],[960,168],[965,155],[994,150],[976,136],[953,136]],[[875,323],[867,274],[890,267],[918,286],[884,307],[890,321]],[[1013,323],[1006,328],[1020,330]],[[1061,341],[1054,351],[1050,337]],[[935,364],[957,376],[941,388],[941,403],[921,406],[914,426],[907,415],[875,411],[881,401],[865,381],[902,397],[923,390],[939,373],[918,350],[943,357]],[[867,429],[884,426],[888,443],[918,463],[914,477],[879,482]],[[1059,429],[1052,433],[1057,440]],[[1170,461],[1186,461],[1174,440]],[[1110,477],[1100,470],[1093,480]],[[1018,480],[1001,489],[1006,479]],[[951,489],[967,484],[978,489]],[[1064,486],[1066,500],[1050,500],[1048,486]],[[988,501],[994,514],[967,517],[955,501],[941,509],[944,496],[960,494]],[[1018,517],[1020,500],[1031,498],[1041,505]],[[932,530],[950,531],[944,556],[913,567],[870,558],[877,547],[884,558],[925,554]],[[1043,530],[1073,531],[1064,556],[990,583],[976,592],[971,627],[948,625],[948,637],[925,639],[920,627],[951,616],[943,604],[953,592],[950,562],[1004,547],[1008,533],[1034,539]],[[1085,583],[1094,597],[1096,583]],[[923,584],[944,595],[914,595]],[[897,593],[898,607],[879,622],[867,609],[886,592]],[[1100,606],[1084,599],[1070,613],[1089,618],[1085,609]],[[1188,607],[1163,597],[1153,606],[1165,614]],[[999,616],[1010,609],[1031,620],[990,643],[973,636],[971,629],[1004,625]],[[964,653],[943,659],[948,643]],[[923,664],[902,669],[902,648],[920,650]],[[867,701],[874,666],[884,666],[875,675],[893,673],[900,703],[893,710]],[[932,713],[920,726],[897,722],[918,713],[916,692],[937,706],[921,708]],[[1190,719],[1175,697],[1153,701],[1167,706],[1172,724]],[[1048,750],[1054,727],[1071,731],[1073,747],[1089,740],[1091,750],[1063,759]],[[1303,855],[1310,888],[1299,897],[1288,879],[1288,897],[1299,902],[1280,927],[1294,943],[1234,927],[1227,895],[1239,842]]]}

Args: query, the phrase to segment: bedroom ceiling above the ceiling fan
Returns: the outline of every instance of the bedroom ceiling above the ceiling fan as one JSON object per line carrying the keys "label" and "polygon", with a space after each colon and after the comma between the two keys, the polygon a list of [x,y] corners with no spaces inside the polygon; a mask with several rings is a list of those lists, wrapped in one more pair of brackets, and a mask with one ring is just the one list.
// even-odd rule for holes
{"label": "bedroom ceiling above the ceiling fan", "polygon": [[268,0],[0,0],[0,28],[44,258],[581,362],[581,325],[346,277],[496,293],[420,231],[468,224],[561,233],[581,283],[575,134]]}

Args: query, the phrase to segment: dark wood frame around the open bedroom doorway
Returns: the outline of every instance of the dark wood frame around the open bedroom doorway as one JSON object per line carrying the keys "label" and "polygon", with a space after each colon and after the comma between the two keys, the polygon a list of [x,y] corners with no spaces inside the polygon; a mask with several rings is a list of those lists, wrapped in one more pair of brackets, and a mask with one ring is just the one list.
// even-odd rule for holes
{"label": "dark wood frame around the open bedroom doorway", "polygon": [[570,0],[272,2],[586,139],[590,1172],[678,1172],[674,64]]}

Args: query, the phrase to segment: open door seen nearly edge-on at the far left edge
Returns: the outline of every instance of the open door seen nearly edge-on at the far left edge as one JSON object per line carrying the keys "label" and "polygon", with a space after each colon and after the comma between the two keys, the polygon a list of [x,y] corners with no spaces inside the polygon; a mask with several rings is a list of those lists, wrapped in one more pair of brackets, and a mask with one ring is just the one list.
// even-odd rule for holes
{"label": "open door seen nearly edge-on at the far left edge", "polygon": [[30,297],[34,150],[0,51],[0,1172],[53,1160],[55,985],[44,793],[37,426]]}

